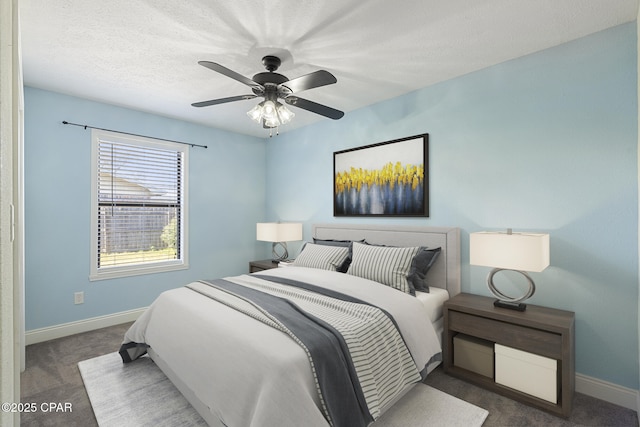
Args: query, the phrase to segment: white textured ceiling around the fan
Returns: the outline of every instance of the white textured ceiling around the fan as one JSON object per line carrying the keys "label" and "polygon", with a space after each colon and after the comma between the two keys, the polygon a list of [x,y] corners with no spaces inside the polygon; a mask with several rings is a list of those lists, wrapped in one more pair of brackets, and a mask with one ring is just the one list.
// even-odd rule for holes
{"label": "white textured ceiling around the fan", "polygon": [[[26,85],[264,137],[243,84],[277,54],[290,79],[338,83],[300,96],[360,107],[636,19],[638,0],[20,0]],[[280,132],[330,120],[297,108]],[[62,119],[73,120],[73,117]],[[99,126],[100,124],[95,124]]]}

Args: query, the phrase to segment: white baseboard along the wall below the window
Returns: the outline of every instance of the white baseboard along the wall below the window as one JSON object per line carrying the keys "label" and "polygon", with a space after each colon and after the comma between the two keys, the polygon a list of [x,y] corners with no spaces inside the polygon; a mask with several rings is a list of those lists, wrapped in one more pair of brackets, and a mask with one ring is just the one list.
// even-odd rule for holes
{"label": "white baseboard along the wall below the window", "polygon": [[122,323],[135,321],[147,308],[122,311],[120,313],[108,314],[106,316],[92,317],[90,319],[79,320],[77,322],[63,323],[61,325],[48,326],[46,328],[32,329],[25,332],[25,344],[36,344],[39,342],[54,340],[69,335],[89,332],[109,326],[120,325]]}

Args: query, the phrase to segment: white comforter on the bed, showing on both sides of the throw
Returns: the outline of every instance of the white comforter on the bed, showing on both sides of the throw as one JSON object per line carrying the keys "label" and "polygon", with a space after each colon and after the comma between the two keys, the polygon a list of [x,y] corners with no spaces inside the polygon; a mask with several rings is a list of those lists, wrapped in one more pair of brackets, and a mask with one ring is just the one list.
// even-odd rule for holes
{"label": "white comforter on the bed, showing on both sides of the throw", "polygon": [[[422,369],[441,351],[429,313],[415,297],[370,280],[286,267],[288,277],[352,295],[395,318]],[[125,343],[150,345],[210,413],[212,423],[326,427],[304,350],[287,335],[186,288],[164,292],[134,323]],[[386,409],[386,408],[383,408]]]}

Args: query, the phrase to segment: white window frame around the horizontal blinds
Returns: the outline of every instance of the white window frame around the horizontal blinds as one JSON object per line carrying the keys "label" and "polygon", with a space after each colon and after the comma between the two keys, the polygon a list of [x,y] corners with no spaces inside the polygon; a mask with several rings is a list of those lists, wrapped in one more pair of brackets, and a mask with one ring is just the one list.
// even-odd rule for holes
{"label": "white window frame around the horizontal blinds", "polygon": [[[146,264],[132,264],[123,266],[110,266],[98,268],[98,157],[100,142],[113,142],[132,146],[142,146],[172,150],[182,153],[182,182],[180,185],[180,259],[157,261]],[[189,171],[189,147],[169,141],[162,141],[149,137],[134,136],[101,129],[91,130],[91,266],[89,280],[115,279],[121,277],[137,276],[142,274],[161,273],[168,271],[184,270],[189,268],[188,257],[188,171]]]}

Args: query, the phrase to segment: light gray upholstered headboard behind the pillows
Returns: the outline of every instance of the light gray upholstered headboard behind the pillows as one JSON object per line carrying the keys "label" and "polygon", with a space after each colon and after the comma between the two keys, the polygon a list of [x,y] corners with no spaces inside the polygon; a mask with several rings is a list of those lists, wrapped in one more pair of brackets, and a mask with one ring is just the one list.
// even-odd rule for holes
{"label": "light gray upholstered headboard behind the pillows", "polygon": [[405,227],[397,225],[315,224],[317,239],[362,240],[391,246],[442,248],[427,276],[429,286],[460,293],[460,229],[456,227]]}

